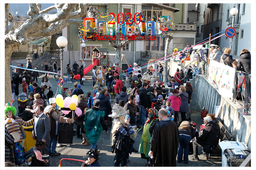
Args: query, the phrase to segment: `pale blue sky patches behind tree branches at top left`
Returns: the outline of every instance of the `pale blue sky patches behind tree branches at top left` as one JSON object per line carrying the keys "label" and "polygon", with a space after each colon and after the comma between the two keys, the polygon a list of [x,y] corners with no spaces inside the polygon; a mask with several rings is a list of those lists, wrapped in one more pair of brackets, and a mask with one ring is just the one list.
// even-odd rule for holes
{"label": "pale blue sky patches behind tree branches at top left", "polygon": [[[42,9],[48,8],[49,6],[53,6],[53,3],[41,3]],[[9,8],[9,13],[13,12],[14,16],[26,16],[28,17],[27,12],[29,11],[29,4],[28,3],[11,3]],[[15,12],[18,11],[17,15]],[[52,11],[57,11],[53,9]],[[11,13],[12,14],[12,13]]]}

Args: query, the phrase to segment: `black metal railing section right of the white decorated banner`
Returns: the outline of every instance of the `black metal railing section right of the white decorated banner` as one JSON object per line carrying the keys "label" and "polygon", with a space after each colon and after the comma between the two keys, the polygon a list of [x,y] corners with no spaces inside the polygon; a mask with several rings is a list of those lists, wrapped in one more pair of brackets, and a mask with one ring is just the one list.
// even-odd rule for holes
{"label": "black metal railing section right of the white decorated banner", "polygon": [[[242,101],[242,104],[239,103]],[[236,71],[232,102],[239,104],[242,113],[248,114],[251,106],[251,75],[242,71]]]}

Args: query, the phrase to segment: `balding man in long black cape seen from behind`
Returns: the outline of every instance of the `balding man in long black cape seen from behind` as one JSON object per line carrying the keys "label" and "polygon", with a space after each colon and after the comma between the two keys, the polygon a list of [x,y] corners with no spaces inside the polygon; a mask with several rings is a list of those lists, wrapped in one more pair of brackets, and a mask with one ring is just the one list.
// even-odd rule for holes
{"label": "balding man in long black cape seen from behind", "polygon": [[176,157],[179,147],[179,130],[177,124],[168,119],[166,109],[160,109],[161,121],[154,127],[150,140],[150,151],[148,156],[149,166],[154,167],[176,167]]}

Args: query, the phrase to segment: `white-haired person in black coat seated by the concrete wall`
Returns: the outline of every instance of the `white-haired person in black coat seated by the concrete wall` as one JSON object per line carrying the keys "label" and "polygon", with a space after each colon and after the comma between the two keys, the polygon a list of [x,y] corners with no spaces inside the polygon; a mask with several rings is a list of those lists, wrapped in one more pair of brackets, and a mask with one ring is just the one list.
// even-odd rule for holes
{"label": "white-haired person in black coat seated by the concrete wall", "polygon": [[210,116],[204,118],[204,129],[201,136],[196,137],[193,141],[193,156],[190,159],[194,161],[199,161],[198,158],[198,146],[204,147],[203,154],[211,153],[212,149],[218,145],[220,139],[220,126],[218,124],[218,119],[214,119]]}

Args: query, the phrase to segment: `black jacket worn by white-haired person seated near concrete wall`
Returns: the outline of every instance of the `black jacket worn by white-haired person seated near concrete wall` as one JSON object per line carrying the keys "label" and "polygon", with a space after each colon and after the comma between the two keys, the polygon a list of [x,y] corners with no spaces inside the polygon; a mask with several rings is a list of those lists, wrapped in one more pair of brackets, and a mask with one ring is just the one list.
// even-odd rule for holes
{"label": "black jacket worn by white-haired person seated near concrete wall", "polygon": [[208,122],[204,129],[203,134],[196,138],[199,141],[205,141],[205,144],[212,144],[217,146],[220,139],[221,131],[220,125],[218,124],[218,119]]}

